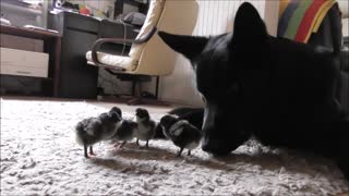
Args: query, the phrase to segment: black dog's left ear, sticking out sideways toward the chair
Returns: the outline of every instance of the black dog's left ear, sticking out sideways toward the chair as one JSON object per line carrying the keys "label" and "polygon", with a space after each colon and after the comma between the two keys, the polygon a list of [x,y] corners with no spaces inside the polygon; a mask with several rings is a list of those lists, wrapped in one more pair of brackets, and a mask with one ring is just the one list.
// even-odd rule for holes
{"label": "black dog's left ear, sticking out sideways toward the chair", "polygon": [[208,38],[173,35],[165,32],[159,32],[160,38],[174,51],[182,53],[189,60],[193,60],[197,57],[205,48]]}

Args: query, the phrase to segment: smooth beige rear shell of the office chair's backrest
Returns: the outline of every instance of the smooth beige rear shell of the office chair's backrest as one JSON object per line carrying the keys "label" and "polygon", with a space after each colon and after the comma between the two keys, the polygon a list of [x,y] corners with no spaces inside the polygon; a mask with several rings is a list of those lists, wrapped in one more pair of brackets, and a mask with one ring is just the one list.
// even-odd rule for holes
{"label": "smooth beige rear shell of the office chair's backrest", "polygon": [[[160,0],[164,1],[164,0]],[[153,1],[151,1],[153,3]],[[196,25],[198,4],[195,0],[165,0],[164,9],[156,25],[158,30],[191,35]],[[143,28],[143,27],[142,27]],[[142,30],[142,29],[141,29]],[[177,53],[157,34],[148,40],[132,74],[169,75],[174,69]]]}

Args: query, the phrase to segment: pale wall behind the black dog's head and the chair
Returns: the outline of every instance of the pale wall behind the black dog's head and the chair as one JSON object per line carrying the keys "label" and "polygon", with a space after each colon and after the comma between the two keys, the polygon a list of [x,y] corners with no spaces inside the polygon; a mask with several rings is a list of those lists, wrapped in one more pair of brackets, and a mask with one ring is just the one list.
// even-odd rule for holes
{"label": "pale wall behind the black dog's head and the chair", "polygon": [[[193,35],[208,36],[231,32],[232,19],[243,1],[198,0],[197,2],[198,19]],[[269,33],[275,35],[278,2],[264,0],[249,2],[252,2],[260,14],[268,20],[267,27]],[[182,56],[179,56],[174,68],[173,74],[161,78],[160,99],[191,106],[202,106],[203,102],[195,88],[195,75],[190,62]]]}

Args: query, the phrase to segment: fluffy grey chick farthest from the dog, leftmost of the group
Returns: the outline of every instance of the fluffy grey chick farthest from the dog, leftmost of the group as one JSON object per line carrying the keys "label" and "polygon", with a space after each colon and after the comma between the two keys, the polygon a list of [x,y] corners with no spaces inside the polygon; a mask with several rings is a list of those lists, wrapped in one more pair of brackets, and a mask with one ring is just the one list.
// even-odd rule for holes
{"label": "fluffy grey chick farthest from the dog, leftmost of the group", "polygon": [[95,155],[93,145],[110,139],[118,126],[120,126],[121,118],[117,112],[101,113],[98,118],[88,118],[79,122],[75,126],[75,135],[77,144],[84,146],[85,158],[89,155]]}

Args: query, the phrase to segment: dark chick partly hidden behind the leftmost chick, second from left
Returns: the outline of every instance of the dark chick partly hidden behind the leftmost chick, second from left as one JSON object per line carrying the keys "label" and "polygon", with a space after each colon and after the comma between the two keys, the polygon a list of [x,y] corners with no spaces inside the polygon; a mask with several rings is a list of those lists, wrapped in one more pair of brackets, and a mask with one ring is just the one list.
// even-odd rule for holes
{"label": "dark chick partly hidden behind the leftmost chick, second from left", "polygon": [[131,120],[122,120],[121,125],[118,127],[112,136],[112,139],[122,140],[119,148],[122,148],[127,142],[132,140],[137,133],[137,123]]}

